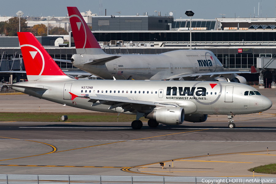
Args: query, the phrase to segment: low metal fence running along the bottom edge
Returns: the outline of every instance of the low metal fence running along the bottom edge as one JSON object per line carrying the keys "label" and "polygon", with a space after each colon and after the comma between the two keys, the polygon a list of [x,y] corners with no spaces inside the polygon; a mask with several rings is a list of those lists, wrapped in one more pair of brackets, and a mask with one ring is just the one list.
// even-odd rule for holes
{"label": "low metal fence running along the bottom edge", "polygon": [[276,183],[276,178],[248,177],[174,177],[174,176],[79,176],[0,174],[0,184],[181,184],[181,183]]}

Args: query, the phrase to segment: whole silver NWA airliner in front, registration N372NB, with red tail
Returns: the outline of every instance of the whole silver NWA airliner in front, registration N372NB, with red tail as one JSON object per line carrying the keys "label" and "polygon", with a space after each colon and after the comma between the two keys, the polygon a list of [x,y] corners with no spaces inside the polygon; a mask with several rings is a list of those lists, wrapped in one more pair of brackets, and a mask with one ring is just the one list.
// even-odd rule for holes
{"label": "whole silver NWA airliner in front, registration N372NB, with red tail", "polygon": [[255,88],[235,82],[76,80],[61,71],[32,33],[18,33],[28,82],[14,90],[62,105],[100,112],[135,114],[131,126],[140,129],[140,117],[150,127],[203,122],[208,114],[258,113],[272,106]]}

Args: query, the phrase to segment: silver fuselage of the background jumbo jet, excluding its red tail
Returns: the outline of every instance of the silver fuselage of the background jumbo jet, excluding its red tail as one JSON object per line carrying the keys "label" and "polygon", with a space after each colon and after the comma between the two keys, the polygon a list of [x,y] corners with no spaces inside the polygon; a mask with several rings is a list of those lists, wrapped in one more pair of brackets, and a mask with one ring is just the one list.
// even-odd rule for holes
{"label": "silver fuselage of the background jumbo jet, excluding its red tail", "polygon": [[[94,64],[93,62],[93,60],[113,56],[118,58],[102,64]],[[93,73],[103,79],[112,79],[113,76],[116,79],[135,80],[163,80],[172,76],[179,79],[181,76],[178,77],[178,75],[183,73],[189,75],[210,73],[212,75],[212,72],[224,70],[213,52],[207,50],[177,50],[148,55],[75,54],[72,56],[71,61],[75,67]],[[214,80],[214,77],[217,76],[214,75],[211,79],[206,79],[206,77],[205,80]],[[186,80],[192,80],[197,77],[186,76]],[[199,80],[201,81],[202,79]]]}

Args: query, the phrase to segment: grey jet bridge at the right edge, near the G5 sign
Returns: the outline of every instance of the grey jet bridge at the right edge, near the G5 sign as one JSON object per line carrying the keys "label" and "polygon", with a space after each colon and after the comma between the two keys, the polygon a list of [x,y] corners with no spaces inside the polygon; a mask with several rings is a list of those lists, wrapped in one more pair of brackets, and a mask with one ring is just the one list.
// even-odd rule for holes
{"label": "grey jet bridge at the right edge, near the G5 sign", "polygon": [[272,73],[272,83],[271,88],[276,88],[275,79],[276,79],[276,58],[270,57],[257,57],[257,68],[260,69],[259,75],[259,88],[264,87],[263,73],[265,71],[270,71]]}

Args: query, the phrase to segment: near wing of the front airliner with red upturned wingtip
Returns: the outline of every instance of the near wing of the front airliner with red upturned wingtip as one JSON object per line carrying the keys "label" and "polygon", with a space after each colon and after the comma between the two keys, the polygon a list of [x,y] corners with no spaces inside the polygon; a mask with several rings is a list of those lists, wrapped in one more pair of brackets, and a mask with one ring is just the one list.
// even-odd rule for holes
{"label": "near wing of the front airliner with red upturned wingtip", "polygon": [[[70,93],[70,92],[69,92]],[[102,95],[102,94],[96,94],[97,96],[78,96],[73,93],[70,93],[72,98],[71,100],[74,100],[75,98],[86,98],[89,99],[88,102],[93,103],[91,106],[96,105],[111,105],[109,109],[114,109],[116,107],[121,107],[123,110],[122,112],[126,111],[152,111],[157,104],[154,102],[149,101],[141,101],[141,100],[132,100],[127,97],[120,97],[120,96],[111,96],[111,95]],[[151,108],[149,108],[151,107]]]}

